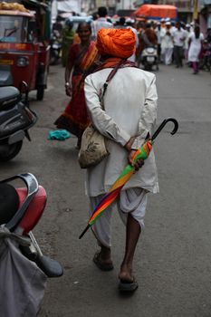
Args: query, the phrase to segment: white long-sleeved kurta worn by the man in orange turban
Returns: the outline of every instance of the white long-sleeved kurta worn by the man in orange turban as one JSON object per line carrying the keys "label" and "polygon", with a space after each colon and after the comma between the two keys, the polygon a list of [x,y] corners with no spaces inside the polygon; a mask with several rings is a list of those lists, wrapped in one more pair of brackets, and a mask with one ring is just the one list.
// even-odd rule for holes
{"label": "white long-sleeved kurta worn by the man in orange turban", "polygon": [[[157,89],[155,75],[138,68],[120,69],[109,83],[104,96],[105,111],[99,96],[111,68],[94,72],[85,80],[85,97],[93,125],[108,138],[110,156],[87,170],[86,191],[89,197],[105,193],[128,164],[124,145],[137,136],[133,149],[143,143],[148,131],[155,128],[157,118]],[[142,187],[158,192],[158,176],[153,150],[149,158],[126,183],[124,189]]]}

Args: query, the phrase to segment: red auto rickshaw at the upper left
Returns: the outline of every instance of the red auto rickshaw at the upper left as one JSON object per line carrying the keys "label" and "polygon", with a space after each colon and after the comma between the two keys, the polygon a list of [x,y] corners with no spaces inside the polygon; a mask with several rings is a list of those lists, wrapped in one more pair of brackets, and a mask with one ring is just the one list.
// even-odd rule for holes
{"label": "red auto rickshaw at the upper left", "polygon": [[0,86],[20,89],[24,81],[29,91],[37,91],[39,101],[47,87],[50,59],[40,4],[34,11],[24,5],[0,4]]}

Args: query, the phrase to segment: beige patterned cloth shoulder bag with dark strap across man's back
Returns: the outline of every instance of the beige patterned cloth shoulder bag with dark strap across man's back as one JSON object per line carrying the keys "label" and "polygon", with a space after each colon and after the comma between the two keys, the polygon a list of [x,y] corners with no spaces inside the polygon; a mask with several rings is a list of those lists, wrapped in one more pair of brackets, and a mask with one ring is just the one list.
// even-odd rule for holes
{"label": "beige patterned cloth shoulder bag with dark strap across man's back", "polygon": [[[110,72],[106,82],[103,85],[103,92],[101,94],[101,108],[104,109],[103,97],[107,90],[111,78],[120,68],[119,62],[117,66]],[[106,148],[106,138],[90,124],[82,134],[82,144],[79,151],[78,161],[81,168],[91,168],[98,165],[102,159],[110,155],[109,150]]]}

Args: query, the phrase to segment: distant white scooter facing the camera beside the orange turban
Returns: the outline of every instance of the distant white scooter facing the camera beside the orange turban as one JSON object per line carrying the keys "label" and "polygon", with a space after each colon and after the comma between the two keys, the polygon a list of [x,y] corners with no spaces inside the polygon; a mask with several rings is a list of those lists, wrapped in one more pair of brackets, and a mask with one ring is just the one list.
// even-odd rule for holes
{"label": "distant white scooter facing the camera beside the orange turban", "polygon": [[146,47],[141,53],[140,61],[142,62],[146,71],[151,71],[153,66],[156,66],[158,71],[158,53],[156,47]]}

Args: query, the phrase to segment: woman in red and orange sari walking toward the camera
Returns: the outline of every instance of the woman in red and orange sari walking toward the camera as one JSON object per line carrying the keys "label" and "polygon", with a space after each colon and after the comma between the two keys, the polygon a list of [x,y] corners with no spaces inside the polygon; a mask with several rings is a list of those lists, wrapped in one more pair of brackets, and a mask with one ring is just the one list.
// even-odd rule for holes
{"label": "woman in red and orange sari walking toward the camera", "polygon": [[72,99],[54,122],[58,129],[69,130],[78,138],[77,148],[81,146],[82,132],[90,123],[84,97],[84,80],[94,71],[99,59],[98,50],[91,42],[91,25],[79,24],[77,33],[81,43],[72,44],[65,69],[65,90]]}

